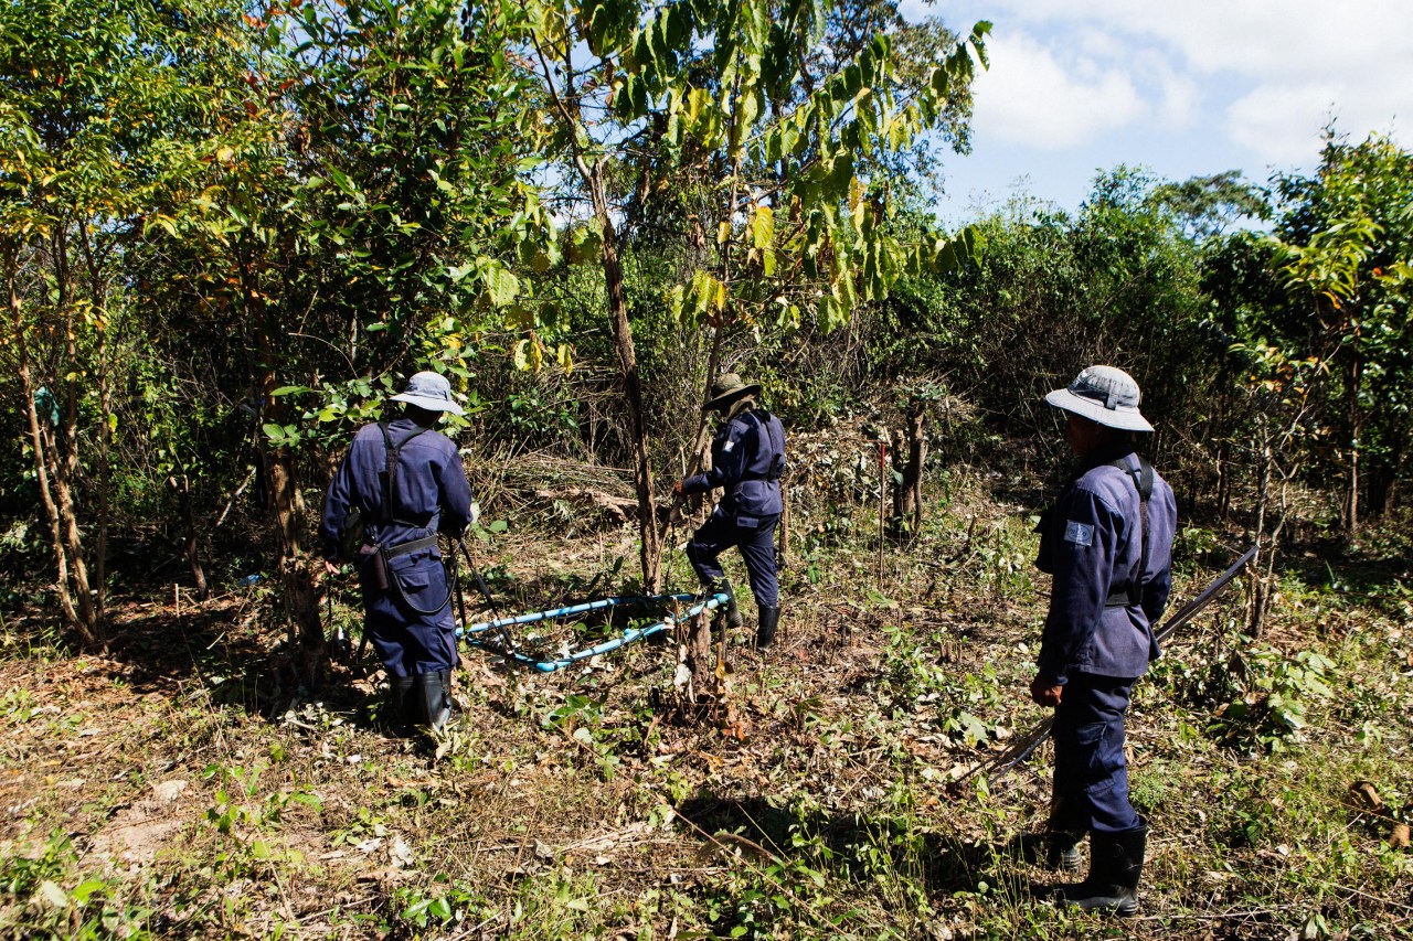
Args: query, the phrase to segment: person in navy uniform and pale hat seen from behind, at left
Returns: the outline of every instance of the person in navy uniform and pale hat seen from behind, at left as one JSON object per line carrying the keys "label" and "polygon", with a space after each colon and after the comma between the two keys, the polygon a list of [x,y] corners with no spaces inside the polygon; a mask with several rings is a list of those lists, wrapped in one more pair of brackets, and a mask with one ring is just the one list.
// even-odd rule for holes
{"label": "person in navy uniform and pale hat seen from behind, at left", "polygon": [[434,425],[462,408],[447,379],[430,372],[414,374],[391,401],[403,403],[400,417],[353,437],[325,496],[319,534],[325,565],[336,574],[343,527],[359,510],[363,630],[387,673],[393,723],[441,729],[451,716],[458,656],[437,534],[459,537],[475,520],[475,504],[456,445]]}

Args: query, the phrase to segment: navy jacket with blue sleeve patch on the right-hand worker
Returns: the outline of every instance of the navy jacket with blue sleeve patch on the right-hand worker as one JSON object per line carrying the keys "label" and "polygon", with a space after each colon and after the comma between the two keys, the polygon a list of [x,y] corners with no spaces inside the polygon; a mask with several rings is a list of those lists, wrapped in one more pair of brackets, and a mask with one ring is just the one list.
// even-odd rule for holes
{"label": "navy jacket with blue sleeve patch on the right-hand worker", "polygon": [[1137,455],[1123,446],[1092,455],[1080,476],[1040,521],[1036,567],[1054,576],[1050,613],[1040,641],[1039,675],[1064,684],[1071,673],[1137,678],[1159,656],[1153,625],[1173,589],[1173,534],[1177,503],[1156,472],[1149,499],[1147,567],[1139,603],[1112,606],[1111,595],[1129,589],[1140,572],[1139,492],[1133,476],[1108,462],[1137,468]]}

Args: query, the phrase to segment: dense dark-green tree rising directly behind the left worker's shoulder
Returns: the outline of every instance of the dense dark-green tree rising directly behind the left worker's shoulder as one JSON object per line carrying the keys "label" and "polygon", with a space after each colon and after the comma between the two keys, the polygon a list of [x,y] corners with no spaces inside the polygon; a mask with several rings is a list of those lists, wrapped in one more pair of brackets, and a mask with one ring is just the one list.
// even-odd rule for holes
{"label": "dense dark-green tree rising directly behind the left worker's shoulder", "polygon": [[447,0],[268,7],[225,100],[240,133],[148,223],[178,259],[160,263],[171,297],[195,301],[172,324],[213,336],[249,390],[311,671],[324,637],[305,479],[325,483],[335,442],[396,373],[471,386],[475,336],[520,309],[506,260],[545,225],[516,177],[520,83],[499,16]]}

